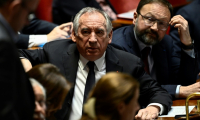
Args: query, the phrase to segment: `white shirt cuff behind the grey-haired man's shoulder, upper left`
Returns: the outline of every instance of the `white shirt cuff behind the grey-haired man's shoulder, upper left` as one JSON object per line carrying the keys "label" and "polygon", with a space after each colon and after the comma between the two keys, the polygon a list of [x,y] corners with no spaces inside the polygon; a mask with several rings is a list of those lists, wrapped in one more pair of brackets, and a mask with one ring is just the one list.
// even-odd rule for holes
{"label": "white shirt cuff behind the grey-haired man's shoulder, upper left", "polygon": [[29,35],[28,47],[35,47],[47,42],[47,35]]}

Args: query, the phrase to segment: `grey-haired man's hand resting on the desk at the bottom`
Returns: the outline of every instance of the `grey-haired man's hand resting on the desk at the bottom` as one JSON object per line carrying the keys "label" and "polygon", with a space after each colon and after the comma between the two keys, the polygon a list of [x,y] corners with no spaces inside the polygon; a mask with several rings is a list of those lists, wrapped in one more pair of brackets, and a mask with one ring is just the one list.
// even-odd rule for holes
{"label": "grey-haired man's hand resting on the desk at the bottom", "polygon": [[136,120],[151,120],[158,118],[160,108],[158,106],[150,105],[144,109],[140,109],[135,116]]}

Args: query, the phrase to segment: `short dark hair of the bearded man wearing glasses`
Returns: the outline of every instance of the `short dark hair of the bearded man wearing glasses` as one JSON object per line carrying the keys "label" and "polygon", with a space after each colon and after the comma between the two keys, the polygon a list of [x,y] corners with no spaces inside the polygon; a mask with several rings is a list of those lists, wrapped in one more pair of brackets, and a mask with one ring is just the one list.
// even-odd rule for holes
{"label": "short dark hair of the bearded man wearing glasses", "polygon": [[137,13],[140,13],[140,10],[142,9],[142,7],[146,4],[149,4],[149,3],[162,3],[163,5],[165,5],[169,9],[171,17],[172,17],[173,7],[167,0],[140,0],[138,7],[137,7],[137,10],[136,10]]}

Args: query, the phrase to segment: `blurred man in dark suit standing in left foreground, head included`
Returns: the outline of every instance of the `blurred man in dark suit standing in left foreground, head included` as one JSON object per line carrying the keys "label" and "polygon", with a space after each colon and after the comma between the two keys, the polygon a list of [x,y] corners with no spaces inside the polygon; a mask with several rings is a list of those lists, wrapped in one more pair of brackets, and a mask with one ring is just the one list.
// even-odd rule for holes
{"label": "blurred man in dark suit standing in left foreground, head included", "polygon": [[38,0],[0,1],[0,119],[32,120],[35,99],[14,40]]}

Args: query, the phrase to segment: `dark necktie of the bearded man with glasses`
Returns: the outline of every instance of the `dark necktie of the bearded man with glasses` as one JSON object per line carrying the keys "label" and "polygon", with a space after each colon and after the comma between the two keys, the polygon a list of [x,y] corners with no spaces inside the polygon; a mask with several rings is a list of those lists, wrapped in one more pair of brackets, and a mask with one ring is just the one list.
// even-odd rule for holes
{"label": "dark necktie of the bearded man with glasses", "polygon": [[150,47],[145,47],[142,50],[142,61],[144,62],[144,70],[146,73],[149,74],[149,64],[148,64],[148,55],[150,53],[151,48]]}

